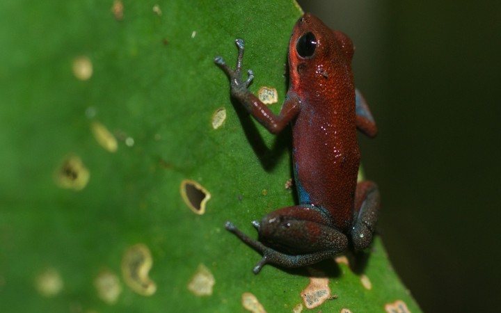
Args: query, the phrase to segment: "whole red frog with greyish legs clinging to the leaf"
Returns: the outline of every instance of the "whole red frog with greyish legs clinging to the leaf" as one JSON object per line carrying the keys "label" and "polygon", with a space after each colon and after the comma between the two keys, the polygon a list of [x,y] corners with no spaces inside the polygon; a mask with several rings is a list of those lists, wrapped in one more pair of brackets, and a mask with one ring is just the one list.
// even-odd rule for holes
{"label": "whole red frog with greyish legs clinging to the leaf", "polygon": [[353,43],[320,19],[303,15],[289,42],[289,90],[280,113],[267,108],[242,78],[244,40],[235,40],[237,67],[221,56],[216,65],[230,78],[231,96],[272,134],[292,125],[294,182],[299,204],[253,221],[258,240],[232,223],[226,230],[262,254],[264,264],[300,267],[331,258],[349,247],[362,250],[372,242],[379,211],[374,182],[357,182],[360,152],[356,130],[369,137],[377,128],[367,103],[353,84]]}

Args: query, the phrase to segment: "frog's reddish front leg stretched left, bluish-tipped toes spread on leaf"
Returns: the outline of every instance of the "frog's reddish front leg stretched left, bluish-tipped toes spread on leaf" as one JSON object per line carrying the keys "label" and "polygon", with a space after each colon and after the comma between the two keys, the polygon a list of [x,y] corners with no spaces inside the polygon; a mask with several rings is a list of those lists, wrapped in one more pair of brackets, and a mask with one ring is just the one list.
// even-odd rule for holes
{"label": "frog's reddish front leg stretched left, bluish-tipped toes spread on leaf", "polygon": [[250,93],[248,86],[254,78],[251,70],[248,70],[248,79],[242,78],[242,60],[244,58],[244,40],[235,40],[238,48],[237,68],[232,70],[221,56],[216,56],[214,62],[230,77],[231,95],[237,99],[253,117],[272,134],[277,134],[296,117],[300,111],[299,97],[295,93],[287,93],[280,113],[273,113],[260,99]]}

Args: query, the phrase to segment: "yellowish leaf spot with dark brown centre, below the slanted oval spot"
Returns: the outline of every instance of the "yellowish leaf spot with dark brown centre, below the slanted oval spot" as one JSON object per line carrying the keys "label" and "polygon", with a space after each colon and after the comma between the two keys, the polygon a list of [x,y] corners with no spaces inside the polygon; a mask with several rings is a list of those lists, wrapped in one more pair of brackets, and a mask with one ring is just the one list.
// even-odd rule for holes
{"label": "yellowish leaf spot with dark brown centre, below the slanted oval spot", "polygon": [[80,191],[87,186],[90,173],[81,159],[75,155],[68,157],[56,170],[56,184],[61,188]]}

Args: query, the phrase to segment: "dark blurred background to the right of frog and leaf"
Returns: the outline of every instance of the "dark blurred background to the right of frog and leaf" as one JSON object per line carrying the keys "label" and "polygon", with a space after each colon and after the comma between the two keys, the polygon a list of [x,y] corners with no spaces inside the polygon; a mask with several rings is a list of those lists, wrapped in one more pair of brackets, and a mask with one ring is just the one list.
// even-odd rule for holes
{"label": "dark blurred background to the right of frog and leaf", "polygon": [[379,126],[360,136],[379,230],[424,312],[500,297],[501,1],[299,1],[347,33]]}

